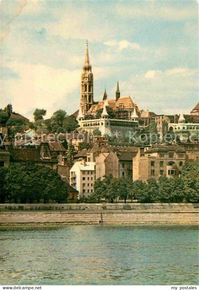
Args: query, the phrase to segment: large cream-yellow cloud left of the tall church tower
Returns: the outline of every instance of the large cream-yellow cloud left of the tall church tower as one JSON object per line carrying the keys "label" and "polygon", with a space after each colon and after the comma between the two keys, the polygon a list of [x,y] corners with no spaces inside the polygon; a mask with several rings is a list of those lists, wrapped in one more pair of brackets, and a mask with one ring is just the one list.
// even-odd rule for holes
{"label": "large cream-yellow cloud left of the tall church tower", "polygon": [[62,108],[70,104],[67,95],[79,86],[79,70],[17,62],[10,62],[10,69],[19,78],[2,80],[2,107],[10,102],[11,97],[14,110],[24,114],[39,107],[47,109],[47,117],[50,117],[57,106]]}

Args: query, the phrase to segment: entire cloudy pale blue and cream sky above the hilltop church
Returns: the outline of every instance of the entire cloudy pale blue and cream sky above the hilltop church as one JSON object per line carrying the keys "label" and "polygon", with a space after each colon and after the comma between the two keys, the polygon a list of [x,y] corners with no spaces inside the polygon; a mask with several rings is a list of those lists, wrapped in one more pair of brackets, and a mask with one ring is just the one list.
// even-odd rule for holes
{"label": "entire cloudy pale blue and cream sky above the hilltop church", "polygon": [[198,3],[1,1],[1,108],[33,119],[36,108],[72,114],[88,48],[94,100],[131,96],[156,114],[189,113],[198,102]]}

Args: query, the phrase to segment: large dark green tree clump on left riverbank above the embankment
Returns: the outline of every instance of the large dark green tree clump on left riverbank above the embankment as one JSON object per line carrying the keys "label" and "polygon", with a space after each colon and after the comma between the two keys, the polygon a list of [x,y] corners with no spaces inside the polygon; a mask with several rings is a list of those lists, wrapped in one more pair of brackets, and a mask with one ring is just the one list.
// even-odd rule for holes
{"label": "large dark green tree clump on left riverbank above the embankment", "polygon": [[[3,191],[1,198],[7,200],[20,199],[22,203],[44,203],[49,200],[66,202],[67,187],[54,170],[45,166],[31,163],[11,163],[6,172],[0,171],[3,176]],[[2,181],[1,181],[2,182]]]}

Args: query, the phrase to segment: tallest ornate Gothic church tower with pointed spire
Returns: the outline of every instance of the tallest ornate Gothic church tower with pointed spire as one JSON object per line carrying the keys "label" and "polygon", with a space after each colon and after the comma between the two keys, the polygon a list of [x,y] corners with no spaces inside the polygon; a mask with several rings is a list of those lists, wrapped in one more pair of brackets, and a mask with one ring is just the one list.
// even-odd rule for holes
{"label": "tallest ornate Gothic church tower with pointed spire", "polygon": [[83,73],[81,74],[82,113],[83,114],[87,113],[92,105],[93,105],[93,74],[92,74],[92,67],[89,61],[88,40],[87,40]]}

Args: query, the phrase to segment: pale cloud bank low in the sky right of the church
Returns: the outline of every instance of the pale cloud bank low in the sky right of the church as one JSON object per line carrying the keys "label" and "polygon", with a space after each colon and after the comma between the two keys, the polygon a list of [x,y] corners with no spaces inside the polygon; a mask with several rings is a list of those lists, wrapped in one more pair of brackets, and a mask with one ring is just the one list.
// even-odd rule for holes
{"label": "pale cloud bank low in the sky right of the church", "polygon": [[177,114],[181,110],[189,113],[198,99],[198,70],[148,70],[120,82],[120,91],[135,97],[141,109],[157,114]]}

